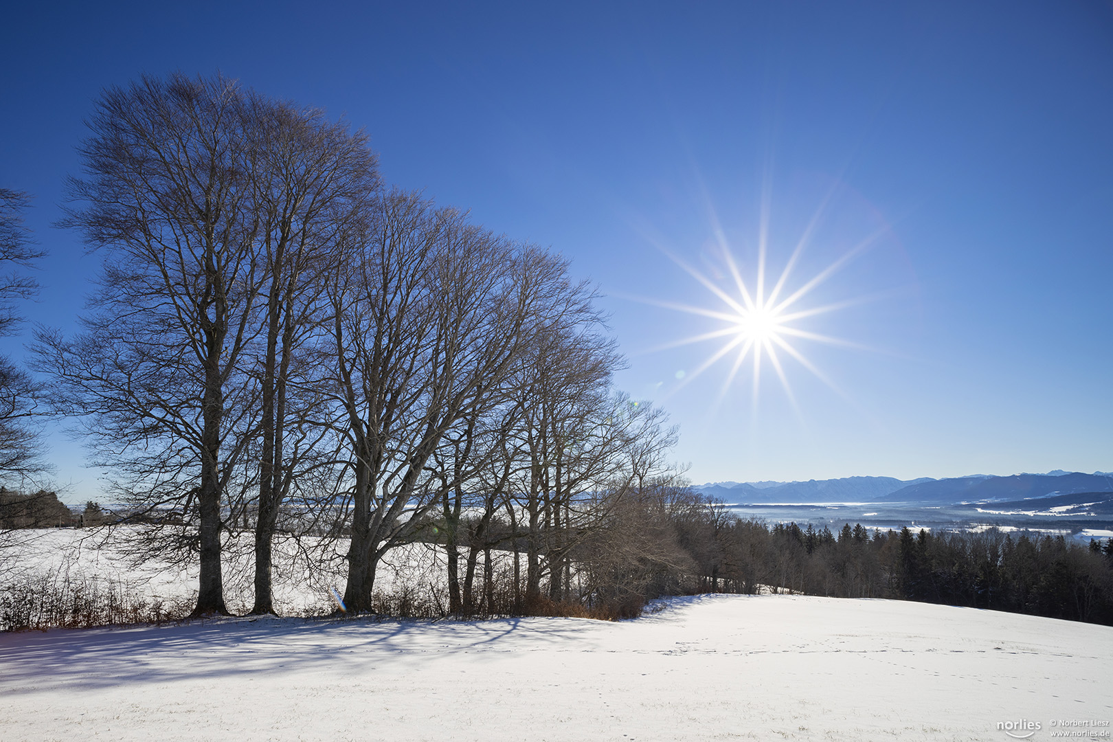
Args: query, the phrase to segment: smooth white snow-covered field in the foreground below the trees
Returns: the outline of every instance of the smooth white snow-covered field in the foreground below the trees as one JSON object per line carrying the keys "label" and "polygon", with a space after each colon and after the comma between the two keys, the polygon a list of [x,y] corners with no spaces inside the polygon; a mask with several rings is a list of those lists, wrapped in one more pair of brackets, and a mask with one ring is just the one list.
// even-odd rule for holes
{"label": "smooth white snow-covered field in the foreground below the trees", "polygon": [[1111,660],[1107,626],[782,595],[56,630],[0,635],[0,739],[1048,740],[1113,721]]}

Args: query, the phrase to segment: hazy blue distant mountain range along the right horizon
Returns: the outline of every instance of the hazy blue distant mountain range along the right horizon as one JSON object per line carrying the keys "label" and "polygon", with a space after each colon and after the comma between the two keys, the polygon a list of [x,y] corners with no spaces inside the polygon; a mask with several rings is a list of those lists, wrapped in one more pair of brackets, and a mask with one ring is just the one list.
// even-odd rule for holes
{"label": "hazy blue distant mountain range along the right horizon", "polygon": [[1023,501],[1074,493],[1113,492],[1113,474],[1063,472],[993,476],[973,474],[933,479],[850,476],[808,482],[715,482],[695,489],[728,504],[914,503],[946,505]]}

